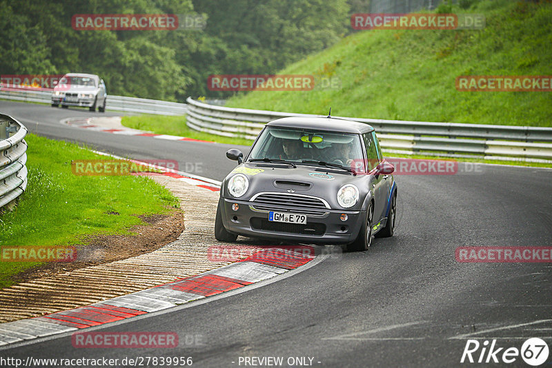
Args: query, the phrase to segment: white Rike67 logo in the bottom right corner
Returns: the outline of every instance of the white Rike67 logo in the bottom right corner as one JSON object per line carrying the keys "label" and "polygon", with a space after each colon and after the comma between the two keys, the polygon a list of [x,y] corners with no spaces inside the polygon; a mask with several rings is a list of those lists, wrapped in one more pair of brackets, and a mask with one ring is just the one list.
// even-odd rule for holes
{"label": "white Rike67 logo in the bottom right corner", "polygon": [[517,361],[520,356],[528,365],[537,367],[544,364],[548,359],[549,348],[544,340],[540,338],[525,340],[521,349],[517,349],[517,347],[497,347],[496,340],[493,340],[492,343],[489,343],[489,340],[484,340],[483,343],[478,340],[468,340],[460,362],[501,362],[509,364]]}

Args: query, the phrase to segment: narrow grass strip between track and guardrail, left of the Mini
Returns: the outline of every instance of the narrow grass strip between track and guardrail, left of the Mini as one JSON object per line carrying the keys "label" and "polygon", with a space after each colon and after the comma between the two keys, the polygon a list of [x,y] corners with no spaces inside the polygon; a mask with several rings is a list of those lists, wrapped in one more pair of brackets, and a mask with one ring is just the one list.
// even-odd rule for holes
{"label": "narrow grass strip between track and guardrail, left of the Mini", "polygon": [[253,141],[242,138],[230,138],[216,136],[204,132],[197,132],[188,128],[186,116],[160,116],[143,114],[138,116],[123,116],[121,124],[133,129],[147,130],[156,134],[168,134],[171,136],[185,136],[186,138],[201,139],[217,143],[228,143],[235,145],[251,145]]}

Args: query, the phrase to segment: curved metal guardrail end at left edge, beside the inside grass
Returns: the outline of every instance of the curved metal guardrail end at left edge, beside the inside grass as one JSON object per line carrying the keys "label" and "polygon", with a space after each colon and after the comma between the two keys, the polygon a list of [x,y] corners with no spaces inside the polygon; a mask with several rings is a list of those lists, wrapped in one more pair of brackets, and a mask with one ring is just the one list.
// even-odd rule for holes
{"label": "curved metal guardrail end at left edge, beside the inside grass", "polygon": [[9,208],[27,187],[27,129],[0,114],[0,209]]}

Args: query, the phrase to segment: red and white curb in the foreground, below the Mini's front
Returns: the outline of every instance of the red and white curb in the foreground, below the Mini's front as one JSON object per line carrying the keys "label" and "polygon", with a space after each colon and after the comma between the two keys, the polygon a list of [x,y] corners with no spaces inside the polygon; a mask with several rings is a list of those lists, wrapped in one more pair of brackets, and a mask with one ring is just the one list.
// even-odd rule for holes
{"label": "red and white curb in the foreground, below the Mini's front", "polygon": [[0,324],[0,346],[105,325],[273,278],[314,260],[313,247],[269,247],[230,265],[100,303]]}

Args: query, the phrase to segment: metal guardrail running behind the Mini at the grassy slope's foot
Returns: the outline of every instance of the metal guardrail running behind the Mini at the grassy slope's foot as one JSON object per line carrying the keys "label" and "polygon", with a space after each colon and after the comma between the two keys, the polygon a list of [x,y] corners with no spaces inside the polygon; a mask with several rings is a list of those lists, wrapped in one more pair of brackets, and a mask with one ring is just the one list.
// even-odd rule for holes
{"label": "metal guardrail running behind the Mini at the grassy slope's foot", "polygon": [[[255,139],[268,121],[286,116],[324,116],[225,108],[188,97],[188,127],[219,136]],[[430,123],[382,119],[355,120],[375,127],[388,153],[552,163],[552,128],[510,125]]]}

